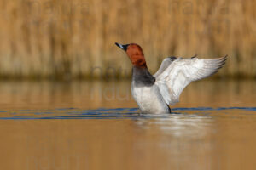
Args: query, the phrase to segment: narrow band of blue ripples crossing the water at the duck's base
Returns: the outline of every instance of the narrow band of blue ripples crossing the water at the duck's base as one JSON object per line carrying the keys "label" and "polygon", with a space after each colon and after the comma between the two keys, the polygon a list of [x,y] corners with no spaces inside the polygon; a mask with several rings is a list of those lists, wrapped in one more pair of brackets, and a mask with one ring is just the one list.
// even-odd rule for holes
{"label": "narrow band of blue ripples crossing the water at the duck's base", "polygon": [[[100,108],[81,110],[76,108],[56,108],[54,110],[18,110],[0,111],[0,120],[33,120],[33,119],[156,119],[172,116],[214,117],[229,114],[232,117],[254,115],[256,107],[180,107],[172,108],[172,114],[140,114],[138,108]],[[236,112],[236,116],[233,114]],[[240,116],[237,116],[237,112]],[[256,115],[256,114],[255,114]]]}

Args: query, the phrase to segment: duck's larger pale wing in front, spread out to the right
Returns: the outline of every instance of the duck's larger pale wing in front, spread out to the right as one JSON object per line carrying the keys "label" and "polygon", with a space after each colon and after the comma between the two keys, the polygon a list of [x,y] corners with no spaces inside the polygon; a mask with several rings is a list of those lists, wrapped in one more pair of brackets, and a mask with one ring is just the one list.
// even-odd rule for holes
{"label": "duck's larger pale wing in front, spread out to the right", "polygon": [[190,83],[209,77],[218,72],[227,59],[227,56],[218,59],[191,59],[177,58],[160,74],[154,74],[155,83],[168,105],[178,102],[183,89]]}

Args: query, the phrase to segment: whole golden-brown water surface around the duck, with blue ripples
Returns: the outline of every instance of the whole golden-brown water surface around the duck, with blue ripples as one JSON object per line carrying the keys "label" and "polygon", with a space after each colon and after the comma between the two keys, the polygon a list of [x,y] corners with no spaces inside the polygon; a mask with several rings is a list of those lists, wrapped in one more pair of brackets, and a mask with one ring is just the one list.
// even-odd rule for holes
{"label": "whole golden-brown water surface around the duck, with blue ripples", "polygon": [[130,82],[2,82],[2,169],[255,169],[255,81],[194,82],[140,114]]}

